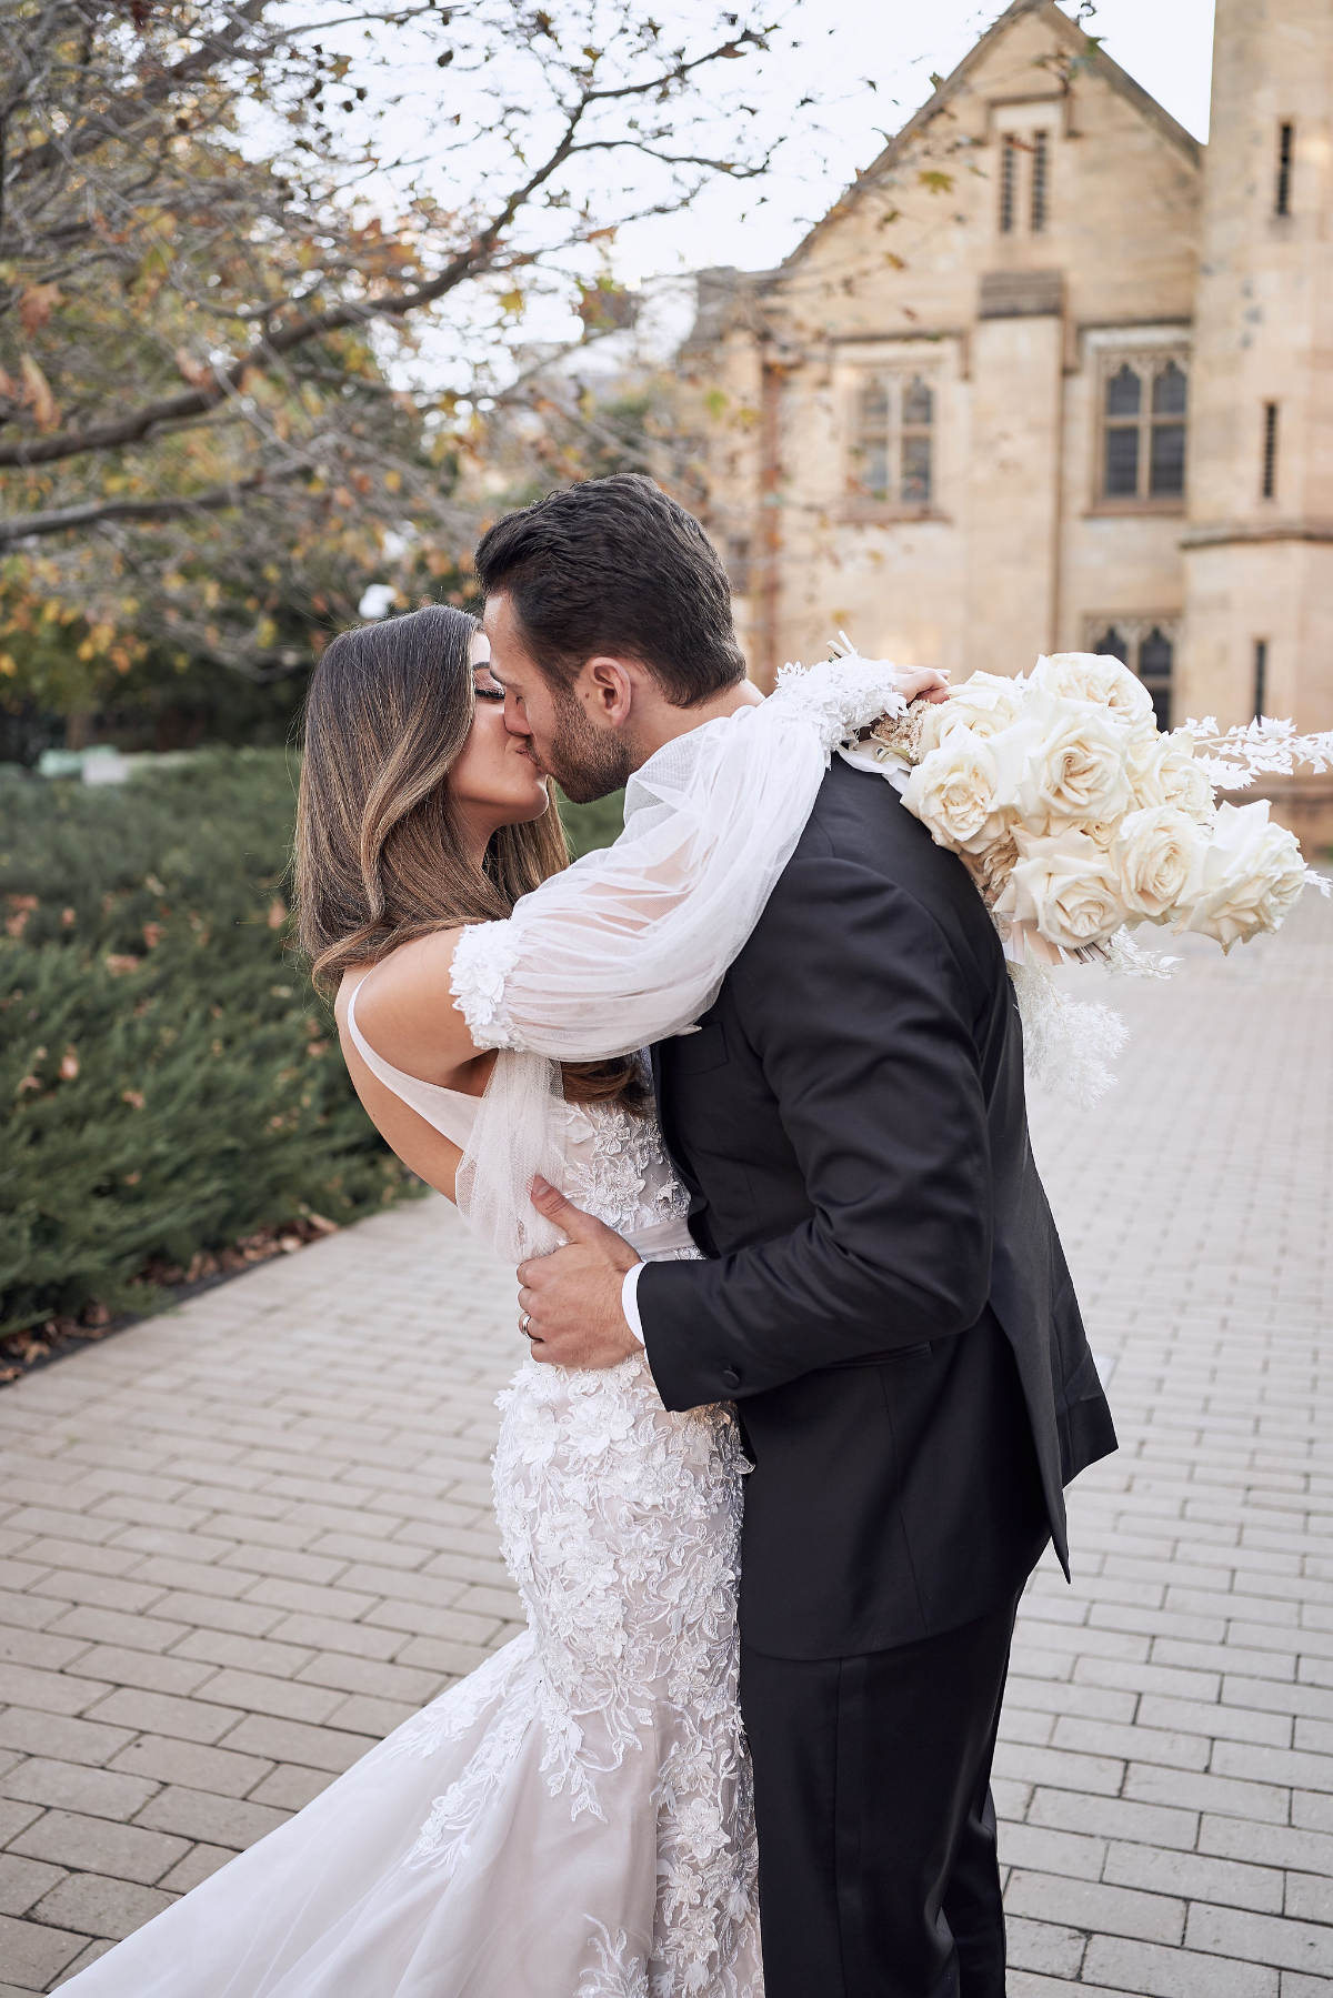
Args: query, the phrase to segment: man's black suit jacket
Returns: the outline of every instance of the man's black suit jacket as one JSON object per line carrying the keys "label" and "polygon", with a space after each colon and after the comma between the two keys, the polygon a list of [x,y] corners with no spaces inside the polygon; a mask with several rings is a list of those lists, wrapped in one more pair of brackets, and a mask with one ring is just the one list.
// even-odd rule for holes
{"label": "man's black suit jacket", "polygon": [[961,861],[833,759],[699,1031],[654,1049],[707,1261],[640,1277],[667,1409],[737,1405],[741,1632],[887,1650],[985,1614],[1115,1449]]}

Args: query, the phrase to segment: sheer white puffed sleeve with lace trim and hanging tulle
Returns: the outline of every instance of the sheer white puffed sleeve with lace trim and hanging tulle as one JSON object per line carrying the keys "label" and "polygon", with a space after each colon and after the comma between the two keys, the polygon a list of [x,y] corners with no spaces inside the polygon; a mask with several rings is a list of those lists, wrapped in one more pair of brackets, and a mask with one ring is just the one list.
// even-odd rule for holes
{"label": "sheer white puffed sleeve with lace trim and hanging tulle", "polygon": [[685,1033],[717,997],[815,803],[833,749],[905,707],[887,659],[787,667],[777,691],[666,743],[626,787],[626,829],[464,929],[454,1001],[500,1055],[458,1169],[458,1207],[502,1257],[562,1237],[532,1207],[560,1181],[562,1061]]}

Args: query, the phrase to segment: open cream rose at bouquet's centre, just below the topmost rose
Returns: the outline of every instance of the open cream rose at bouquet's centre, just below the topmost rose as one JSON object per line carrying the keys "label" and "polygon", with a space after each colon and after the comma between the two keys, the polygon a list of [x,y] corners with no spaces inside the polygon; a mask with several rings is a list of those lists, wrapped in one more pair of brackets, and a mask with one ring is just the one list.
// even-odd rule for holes
{"label": "open cream rose at bouquet's centre, just below the topmost rose", "polygon": [[1043,703],[991,743],[997,801],[1031,833],[1067,823],[1119,819],[1129,805],[1125,731],[1091,701]]}

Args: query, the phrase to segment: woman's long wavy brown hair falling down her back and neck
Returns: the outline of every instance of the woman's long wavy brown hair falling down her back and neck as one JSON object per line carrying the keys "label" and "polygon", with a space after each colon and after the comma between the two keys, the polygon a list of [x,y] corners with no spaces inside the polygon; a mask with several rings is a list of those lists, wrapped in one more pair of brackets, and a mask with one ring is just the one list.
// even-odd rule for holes
{"label": "woman's long wavy brown hair falling down her back and neck", "polygon": [[[342,631],[310,679],[296,799],[298,943],[326,997],[350,965],[412,937],[506,917],[520,895],[570,865],[556,801],[502,825],[482,867],[460,837],[450,769],[474,715],[476,617],[430,603]],[[566,1063],[574,1103],[644,1109],[634,1057]]]}

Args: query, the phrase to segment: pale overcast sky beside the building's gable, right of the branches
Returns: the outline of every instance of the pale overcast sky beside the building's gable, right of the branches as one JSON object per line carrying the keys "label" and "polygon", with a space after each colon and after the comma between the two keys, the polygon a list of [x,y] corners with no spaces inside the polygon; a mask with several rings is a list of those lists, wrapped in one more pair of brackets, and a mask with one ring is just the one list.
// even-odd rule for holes
{"label": "pale overcast sky beside the building's gable, right of the branches", "polygon": [[[1069,16],[1079,12],[1079,0],[1061,6]],[[1003,12],[1003,0],[801,0],[783,12],[803,46],[773,58],[769,88],[789,92],[791,104],[805,90],[831,100],[823,158],[785,158],[763,184],[723,182],[687,216],[642,224],[632,242],[622,240],[624,276],[781,262],[929,98],[931,70],[947,76]],[[1189,132],[1207,138],[1213,0],[1097,0],[1085,26]],[[865,76],[873,92],[857,88]]]}

